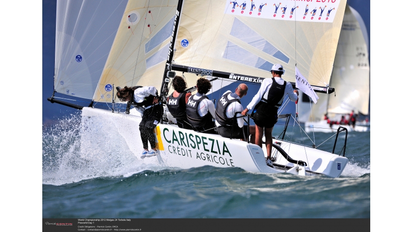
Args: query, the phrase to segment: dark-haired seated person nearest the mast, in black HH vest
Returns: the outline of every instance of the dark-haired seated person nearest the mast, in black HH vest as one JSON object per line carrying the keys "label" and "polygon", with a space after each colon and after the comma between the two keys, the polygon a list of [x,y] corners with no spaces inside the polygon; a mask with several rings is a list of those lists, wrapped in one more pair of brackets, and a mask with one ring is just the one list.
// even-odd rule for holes
{"label": "dark-haired seated person nearest the mast, in black HH vest", "polygon": [[176,118],[179,128],[192,129],[187,118],[188,99],[191,93],[185,92],[187,83],[181,76],[175,76],[172,80],[173,93],[168,97],[166,105],[171,115]]}

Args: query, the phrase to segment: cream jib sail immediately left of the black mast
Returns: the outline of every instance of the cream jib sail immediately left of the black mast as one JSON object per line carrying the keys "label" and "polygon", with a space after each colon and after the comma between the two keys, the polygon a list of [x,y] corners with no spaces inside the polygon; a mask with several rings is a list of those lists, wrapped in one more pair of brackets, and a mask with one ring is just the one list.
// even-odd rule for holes
{"label": "cream jib sail immediately left of the black mast", "polygon": [[112,85],[152,85],[160,89],[177,3],[128,2],[93,96],[95,101],[112,102]]}

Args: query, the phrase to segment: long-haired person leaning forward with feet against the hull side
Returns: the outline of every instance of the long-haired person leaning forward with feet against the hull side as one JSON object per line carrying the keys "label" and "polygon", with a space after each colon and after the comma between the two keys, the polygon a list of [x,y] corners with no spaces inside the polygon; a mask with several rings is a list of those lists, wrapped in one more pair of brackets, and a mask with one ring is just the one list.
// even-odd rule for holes
{"label": "long-haired person leaning forward with feet against the hull side", "polygon": [[[119,88],[119,87],[118,87]],[[126,114],[130,113],[130,107],[134,106],[142,114],[139,123],[140,138],[142,140],[143,152],[140,158],[157,155],[154,128],[161,120],[163,107],[159,102],[158,91],[154,86],[134,86],[118,89],[116,94],[120,101],[127,101]],[[148,141],[151,151],[148,150]]]}

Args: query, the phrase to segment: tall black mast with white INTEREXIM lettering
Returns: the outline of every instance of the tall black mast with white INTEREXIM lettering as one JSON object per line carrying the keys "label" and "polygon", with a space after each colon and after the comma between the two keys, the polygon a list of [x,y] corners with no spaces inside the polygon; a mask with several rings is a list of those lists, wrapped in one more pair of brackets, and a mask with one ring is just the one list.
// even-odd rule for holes
{"label": "tall black mast with white INTEREXIM lettering", "polygon": [[166,75],[167,75],[168,71],[171,70],[171,67],[172,67],[175,40],[176,40],[176,36],[178,35],[178,27],[179,27],[179,21],[180,21],[180,18],[181,18],[181,10],[182,10],[183,3],[184,3],[184,0],[179,0],[178,1],[178,6],[176,7],[176,17],[175,17],[175,22],[173,24],[171,44],[169,46],[168,58],[167,58],[166,64],[165,64],[165,71],[164,71],[164,74],[163,74],[161,91],[160,91],[160,98],[161,98],[162,102],[164,100],[166,100],[165,95],[168,94],[168,91],[169,91],[169,89],[168,89],[168,83],[169,82],[165,83],[165,79],[166,79]]}

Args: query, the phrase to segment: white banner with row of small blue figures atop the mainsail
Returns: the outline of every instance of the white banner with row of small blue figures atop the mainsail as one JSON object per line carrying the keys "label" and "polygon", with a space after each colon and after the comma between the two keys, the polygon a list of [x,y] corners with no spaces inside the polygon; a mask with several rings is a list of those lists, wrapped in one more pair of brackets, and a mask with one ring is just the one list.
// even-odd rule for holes
{"label": "white banner with row of small blue figures atop the mainsail", "polygon": [[267,19],[333,22],[340,0],[274,0],[271,2],[227,0],[224,13]]}

